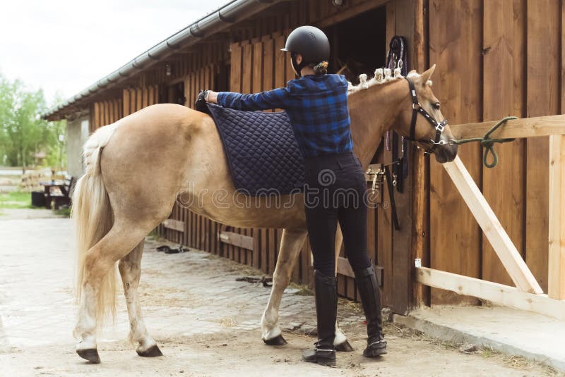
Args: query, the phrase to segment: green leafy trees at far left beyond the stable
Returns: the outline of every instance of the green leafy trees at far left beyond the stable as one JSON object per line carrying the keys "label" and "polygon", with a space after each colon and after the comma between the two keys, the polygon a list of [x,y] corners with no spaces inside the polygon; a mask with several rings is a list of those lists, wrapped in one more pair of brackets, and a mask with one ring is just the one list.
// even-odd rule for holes
{"label": "green leafy trees at far left beyond the stable", "polygon": [[0,74],[0,165],[65,167],[66,122],[41,119],[46,109],[41,89],[32,91]]}

